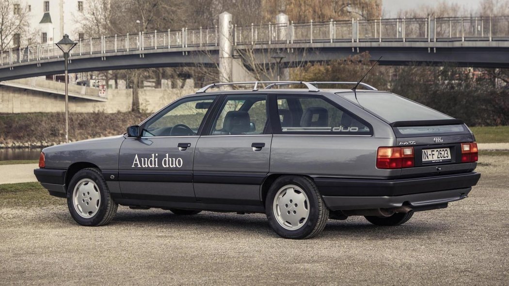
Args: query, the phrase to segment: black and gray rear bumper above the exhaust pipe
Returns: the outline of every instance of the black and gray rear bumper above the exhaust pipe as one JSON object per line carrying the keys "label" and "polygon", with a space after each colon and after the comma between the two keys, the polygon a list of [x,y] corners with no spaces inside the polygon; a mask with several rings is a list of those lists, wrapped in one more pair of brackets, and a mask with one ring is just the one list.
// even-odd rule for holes
{"label": "black and gray rear bumper above the exhaust pipe", "polygon": [[331,210],[426,206],[465,198],[479,173],[396,180],[315,178]]}

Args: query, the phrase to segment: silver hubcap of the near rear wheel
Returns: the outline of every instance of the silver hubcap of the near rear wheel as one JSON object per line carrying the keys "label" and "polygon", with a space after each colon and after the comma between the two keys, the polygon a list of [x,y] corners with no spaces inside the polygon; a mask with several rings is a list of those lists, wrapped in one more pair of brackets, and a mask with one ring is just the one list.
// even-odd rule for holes
{"label": "silver hubcap of the near rear wheel", "polygon": [[309,203],[304,191],[296,185],[286,185],[277,191],[273,203],[277,223],[287,230],[298,230],[309,217]]}

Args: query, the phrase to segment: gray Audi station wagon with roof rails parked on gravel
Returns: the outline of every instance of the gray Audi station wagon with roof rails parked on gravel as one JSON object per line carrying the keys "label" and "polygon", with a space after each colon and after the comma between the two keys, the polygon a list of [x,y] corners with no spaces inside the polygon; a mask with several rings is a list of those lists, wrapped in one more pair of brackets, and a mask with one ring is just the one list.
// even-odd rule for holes
{"label": "gray Audi station wagon with roof rails parked on gravel", "polygon": [[[241,84],[253,88],[207,92]],[[463,121],[336,84],[352,83],[211,84],[124,135],[44,148],[34,173],[83,226],[108,224],[118,204],[266,213],[292,239],[353,215],[397,226],[467,197],[480,174]]]}

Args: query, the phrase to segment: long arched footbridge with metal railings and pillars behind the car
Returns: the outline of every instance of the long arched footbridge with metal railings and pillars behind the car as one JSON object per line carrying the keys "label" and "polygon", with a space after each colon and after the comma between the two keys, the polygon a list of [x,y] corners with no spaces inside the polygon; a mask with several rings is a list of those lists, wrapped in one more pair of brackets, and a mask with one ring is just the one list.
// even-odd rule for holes
{"label": "long arched footbridge with metal railings and pillars behind the car", "polygon": [[[294,23],[279,14],[274,24],[249,26],[232,24],[226,12],[219,19],[215,27],[79,40],[71,51],[69,72],[203,66],[218,67],[231,79],[233,59],[250,70],[268,65],[276,51],[282,67],[365,51],[372,59],[383,56],[382,65],[509,67],[509,16]],[[62,74],[63,60],[55,45],[2,51],[0,81]]]}

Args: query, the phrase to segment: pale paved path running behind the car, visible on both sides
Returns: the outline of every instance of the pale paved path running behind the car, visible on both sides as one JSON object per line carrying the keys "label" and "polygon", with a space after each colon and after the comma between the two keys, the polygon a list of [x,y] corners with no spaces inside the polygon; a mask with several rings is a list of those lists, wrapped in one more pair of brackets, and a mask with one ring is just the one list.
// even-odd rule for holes
{"label": "pale paved path running behind the car, visible on both sides", "polygon": [[[479,143],[479,150],[509,150],[509,143]],[[0,184],[36,182],[34,169],[37,164],[0,166]]]}

